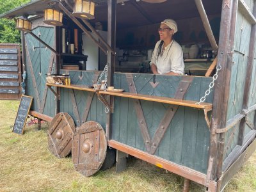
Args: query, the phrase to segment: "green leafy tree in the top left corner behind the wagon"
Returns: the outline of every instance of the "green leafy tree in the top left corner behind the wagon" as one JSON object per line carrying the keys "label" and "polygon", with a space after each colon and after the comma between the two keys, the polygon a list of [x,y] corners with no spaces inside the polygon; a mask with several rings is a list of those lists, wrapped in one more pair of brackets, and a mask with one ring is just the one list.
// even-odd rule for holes
{"label": "green leafy tree in the top left corner behind the wagon", "polygon": [[[28,2],[29,0],[0,0],[0,15]],[[15,29],[13,19],[0,19],[0,43],[20,43],[20,31]]]}

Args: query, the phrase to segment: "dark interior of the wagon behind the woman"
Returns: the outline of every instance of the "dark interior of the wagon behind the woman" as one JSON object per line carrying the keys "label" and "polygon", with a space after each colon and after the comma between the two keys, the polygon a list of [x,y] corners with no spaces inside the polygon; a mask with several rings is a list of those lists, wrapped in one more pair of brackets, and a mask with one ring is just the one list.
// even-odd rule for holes
{"label": "dark interior of the wagon behind the woman", "polygon": [[[95,19],[90,20],[90,23],[107,41],[108,3],[106,1],[95,1],[95,3]],[[203,1],[217,44],[220,32],[221,3],[221,1]],[[68,32],[68,36],[73,36],[73,30],[70,29],[72,21],[68,17],[65,18],[64,24],[68,26],[66,33]],[[150,73],[149,62],[154,46],[159,40],[157,28],[164,19],[174,19],[178,24],[179,31],[174,39],[182,46],[185,73],[192,76],[205,76],[216,58],[216,52],[212,51],[195,1],[191,0],[164,3],[118,1],[116,6],[116,72]],[[77,28],[76,25],[74,28]],[[83,31],[80,32],[83,33]],[[83,42],[81,54],[88,56],[86,70],[103,70],[107,61],[106,54],[100,51],[88,36],[81,35],[81,41]],[[72,65],[72,63],[67,60],[63,62],[63,66],[68,68],[65,65]]]}

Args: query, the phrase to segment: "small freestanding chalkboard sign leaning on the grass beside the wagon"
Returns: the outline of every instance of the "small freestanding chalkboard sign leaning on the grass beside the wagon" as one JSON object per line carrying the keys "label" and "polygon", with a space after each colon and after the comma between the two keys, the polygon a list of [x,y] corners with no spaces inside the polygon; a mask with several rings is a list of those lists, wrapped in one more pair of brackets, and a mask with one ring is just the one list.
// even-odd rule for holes
{"label": "small freestanding chalkboard sign leaning on the grass beside the wagon", "polygon": [[23,134],[24,127],[26,125],[30,106],[32,104],[33,97],[22,95],[20,99],[19,109],[13,125],[13,132],[17,134]]}

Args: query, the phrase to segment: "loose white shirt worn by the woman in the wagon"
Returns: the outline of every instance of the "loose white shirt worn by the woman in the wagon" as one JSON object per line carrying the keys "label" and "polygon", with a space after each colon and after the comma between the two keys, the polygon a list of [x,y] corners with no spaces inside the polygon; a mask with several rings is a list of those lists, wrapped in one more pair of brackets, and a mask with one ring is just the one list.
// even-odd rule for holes
{"label": "loose white shirt worn by the woman in the wagon", "polygon": [[[157,59],[157,49],[161,40],[156,43],[150,65],[155,64],[159,74],[166,74],[168,72],[175,72],[184,75],[184,61],[183,52],[180,45],[173,40],[164,49],[163,55],[159,55]],[[171,47],[170,47],[171,46]]]}

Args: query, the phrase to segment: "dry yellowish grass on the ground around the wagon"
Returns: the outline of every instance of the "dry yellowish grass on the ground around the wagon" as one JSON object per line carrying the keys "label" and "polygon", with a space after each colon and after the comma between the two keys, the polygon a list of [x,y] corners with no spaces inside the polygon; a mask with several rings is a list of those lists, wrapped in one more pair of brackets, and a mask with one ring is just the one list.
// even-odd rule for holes
{"label": "dry yellowish grass on the ground around the wagon", "polygon": [[[46,131],[26,126],[22,136],[12,132],[19,101],[0,100],[0,191],[181,191],[183,178],[140,159],[129,158],[127,170],[115,167],[84,177],[71,157],[57,159],[47,149]],[[256,191],[256,153],[229,182],[225,191]],[[191,183],[190,191],[205,191]]]}

